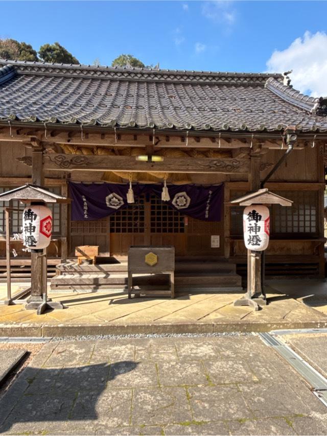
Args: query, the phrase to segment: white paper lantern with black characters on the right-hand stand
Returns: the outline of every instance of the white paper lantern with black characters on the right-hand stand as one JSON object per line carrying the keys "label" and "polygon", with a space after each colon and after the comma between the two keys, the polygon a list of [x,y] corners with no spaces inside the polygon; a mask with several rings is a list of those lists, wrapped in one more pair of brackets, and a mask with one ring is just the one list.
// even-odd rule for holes
{"label": "white paper lantern with black characters on the right-hand stand", "polygon": [[244,243],[248,250],[263,251],[269,244],[269,209],[262,204],[251,204],[243,212]]}

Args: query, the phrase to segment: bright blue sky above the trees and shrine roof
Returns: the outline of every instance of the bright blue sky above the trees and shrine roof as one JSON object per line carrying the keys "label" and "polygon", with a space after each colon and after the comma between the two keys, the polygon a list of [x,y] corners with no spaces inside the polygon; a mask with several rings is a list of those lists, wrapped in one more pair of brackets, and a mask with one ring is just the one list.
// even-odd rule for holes
{"label": "bright blue sky above the trees and shrine roof", "polygon": [[[265,71],[269,59],[270,70],[289,68],[294,53],[287,49],[294,41],[297,69],[316,62],[315,56],[321,62],[316,53],[321,50],[327,62],[327,48],[320,47],[327,47],[327,2],[322,1],[3,1],[1,11],[7,19],[1,20],[0,37],[35,49],[58,41],[86,64],[99,58],[110,65],[119,54],[130,53],[146,64],[159,62],[160,68]],[[313,47],[301,64],[303,44]],[[271,60],[274,51],[281,53],[277,60]]]}

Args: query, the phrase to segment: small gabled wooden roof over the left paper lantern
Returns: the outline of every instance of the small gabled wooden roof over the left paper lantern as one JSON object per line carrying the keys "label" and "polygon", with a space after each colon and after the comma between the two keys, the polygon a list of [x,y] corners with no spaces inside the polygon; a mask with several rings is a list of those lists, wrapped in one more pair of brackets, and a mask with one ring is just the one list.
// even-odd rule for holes
{"label": "small gabled wooden roof over the left paper lantern", "polygon": [[27,183],[19,188],[0,194],[0,201],[19,200],[22,203],[31,201],[44,201],[45,203],[69,203],[71,200],[50,192],[42,186]]}

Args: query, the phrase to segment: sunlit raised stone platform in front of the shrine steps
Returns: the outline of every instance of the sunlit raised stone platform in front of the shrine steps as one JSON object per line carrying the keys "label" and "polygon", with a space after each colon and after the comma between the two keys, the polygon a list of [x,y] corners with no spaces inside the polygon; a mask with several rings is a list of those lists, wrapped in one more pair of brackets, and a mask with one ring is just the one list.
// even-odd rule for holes
{"label": "sunlit raised stone platform in front of the shrine steps", "polygon": [[[37,316],[35,310],[25,310],[24,305],[0,306],[0,335],[208,333],[327,327],[325,282],[287,280],[271,281],[269,285],[270,304],[258,312],[232,305],[243,294],[184,293],[173,300],[143,297],[129,300],[126,294],[114,291],[50,293],[53,300],[62,301],[67,309]],[[325,299],[326,311],[317,305],[311,307],[310,298]]]}

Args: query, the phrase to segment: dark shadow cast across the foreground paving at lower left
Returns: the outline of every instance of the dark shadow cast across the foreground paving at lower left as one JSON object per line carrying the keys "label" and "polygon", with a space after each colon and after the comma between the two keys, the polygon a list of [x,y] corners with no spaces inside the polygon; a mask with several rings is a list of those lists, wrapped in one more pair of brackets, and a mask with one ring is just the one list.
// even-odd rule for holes
{"label": "dark shadow cast across the foreground paving at lower left", "polygon": [[[104,413],[117,401],[124,406],[124,398],[114,398],[111,390],[104,391],[116,377],[132,372],[137,365],[123,360],[110,365],[27,367],[0,400],[0,433],[9,431],[13,424],[16,432],[18,423],[98,420],[100,396]],[[29,431],[30,426],[24,429],[24,425],[21,429],[19,426],[20,431]]]}

